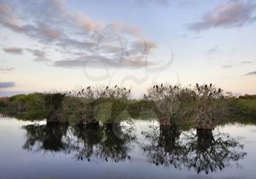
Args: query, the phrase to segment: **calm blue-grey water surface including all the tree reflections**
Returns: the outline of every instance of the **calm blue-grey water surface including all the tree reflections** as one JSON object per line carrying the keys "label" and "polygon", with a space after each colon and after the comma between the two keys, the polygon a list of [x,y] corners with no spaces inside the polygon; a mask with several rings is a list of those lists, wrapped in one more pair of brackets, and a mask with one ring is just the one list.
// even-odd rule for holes
{"label": "calm blue-grey water surface including all the tree reflections", "polygon": [[0,118],[0,178],[255,178],[256,125],[53,127]]}

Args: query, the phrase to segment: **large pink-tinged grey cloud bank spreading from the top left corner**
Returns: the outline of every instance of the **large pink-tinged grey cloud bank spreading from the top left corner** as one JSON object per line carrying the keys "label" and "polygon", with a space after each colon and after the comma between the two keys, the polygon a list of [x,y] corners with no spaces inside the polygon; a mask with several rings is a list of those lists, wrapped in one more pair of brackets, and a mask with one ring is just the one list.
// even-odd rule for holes
{"label": "large pink-tinged grey cloud bank spreading from the top left corner", "polygon": [[[167,1],[159,0],[159,2]],[[64,65],[69,63],[67,60],[75,60],[74,64],[81,63],[78,59],[85,61],[84,55],[90,60],[97,60],[99,57],[108,65],[113,65],[119,63],[120,53],[123,59],[129,60],[125,61],[126,65],[118,65],[118,67],[151,65],[152,63],[142,62],[146,60],[140,58],[146,57],[151,50],[157,48],[156,43],[141,39],[139,27],[124,23],[97,23],[83,12],[69,11],[64,0],[15,2],[2,0],[0,25],[15,33],[29,36],[42,47],[55,49],[55,52],[59,53],[56,56],[61,59],[53,64],[65,68],[73,66]],[[26,50],[35,56],[35,61],[49,60],[44,50]],[[12,51],[15,53],[14,50]],[[18,51],[16,53],[18,54]],[[138,62],[133,62],[134,60]],[[129,61],[132,63],[128,63]]]}

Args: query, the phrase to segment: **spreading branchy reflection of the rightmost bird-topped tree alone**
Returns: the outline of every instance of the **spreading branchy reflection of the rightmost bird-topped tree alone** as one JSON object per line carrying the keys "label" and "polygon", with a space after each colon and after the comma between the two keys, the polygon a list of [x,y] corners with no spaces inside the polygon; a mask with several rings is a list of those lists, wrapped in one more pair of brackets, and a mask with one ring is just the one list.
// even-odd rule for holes
{"label": "spreading branchy reflection of the rightmost bird-topped tree alone", "polygon": [[189,153],[186,166],[197,173],[208,174],[232,167],[232,164],[238,164],[238,160],[246,156],[239,138],[231,138],[228,134],[213,130],[197,130],[195,135],[189,136],[187,146]]}

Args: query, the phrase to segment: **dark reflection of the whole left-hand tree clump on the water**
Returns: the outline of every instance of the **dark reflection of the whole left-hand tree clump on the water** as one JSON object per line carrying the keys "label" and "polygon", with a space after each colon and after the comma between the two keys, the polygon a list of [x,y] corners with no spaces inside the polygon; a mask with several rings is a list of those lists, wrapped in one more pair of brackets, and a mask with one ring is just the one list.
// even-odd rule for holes
{"label": "dark reflection of the whole left-hand tree clump on the water", "polygon": [[53,151],[72,154],[79,161],[102,159],[119,162],[130,159],[129,151],[136,137],[132,127],[120,124],[108,126],[27,125],[28,151]]}

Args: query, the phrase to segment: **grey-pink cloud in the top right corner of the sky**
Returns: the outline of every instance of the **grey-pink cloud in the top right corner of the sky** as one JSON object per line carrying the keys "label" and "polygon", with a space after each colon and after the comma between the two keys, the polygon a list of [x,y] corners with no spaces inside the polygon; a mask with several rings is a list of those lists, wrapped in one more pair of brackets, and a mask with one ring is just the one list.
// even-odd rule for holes
{"label": "grey-pink cloud in the top right corner of the sky", "polygon": [[229,0],[206,12],[202,20],[188,25],[192,31],[204,31],[210,28],[242,27],[254,23],[256,4],[251,1]]}

